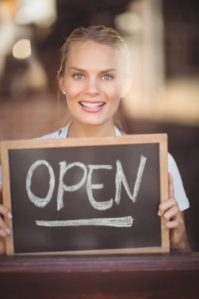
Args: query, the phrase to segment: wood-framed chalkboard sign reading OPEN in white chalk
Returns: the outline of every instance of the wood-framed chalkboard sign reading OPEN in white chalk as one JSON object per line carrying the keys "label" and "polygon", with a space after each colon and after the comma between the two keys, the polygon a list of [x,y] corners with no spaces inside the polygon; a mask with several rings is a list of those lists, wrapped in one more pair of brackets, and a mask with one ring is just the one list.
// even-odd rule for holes
{"label": "wood-framed chalkboard sign reading OPEN in white chalk", "polygon": [[157,253],[167,135],[1,143],[6,254]]}

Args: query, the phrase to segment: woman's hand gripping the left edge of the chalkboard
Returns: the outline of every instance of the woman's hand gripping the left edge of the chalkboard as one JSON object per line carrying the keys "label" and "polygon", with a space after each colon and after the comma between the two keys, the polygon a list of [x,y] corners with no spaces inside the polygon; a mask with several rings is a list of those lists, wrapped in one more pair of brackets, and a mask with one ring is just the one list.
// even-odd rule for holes
{"label": "woman's hand gripping the left edge of the chalkboard", "polygon": [[[7,218],[11,219],[12,214],[10,213],[9,209],[2,205],[2,185],[0,185],[0,214]],[[10,229],[3,221],[2,217],[0,216],[0,255],[5,253],[5,240],[9,240]]]}

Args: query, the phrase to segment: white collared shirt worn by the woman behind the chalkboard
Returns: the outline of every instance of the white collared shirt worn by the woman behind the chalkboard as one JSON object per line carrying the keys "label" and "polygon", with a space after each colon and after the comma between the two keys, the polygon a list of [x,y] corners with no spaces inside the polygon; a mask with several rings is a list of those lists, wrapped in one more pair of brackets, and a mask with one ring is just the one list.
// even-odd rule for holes
{"label": "white collared shirt worn by the woman behind the chalkboard", "polygon": [[[66,127],[56,132],[42,136],[39,139],[65,139],[68,136],[69,125],[70,124],[68,124]],[[114,129],[115,129],[116,136],[121,136],[121,132],[116,127],[114,127]],[[176,161],[174,160],[173,156],[169,152],[168,152],[168,172],[171,172],[173,176],[175,198],[178,202],[179,209],[181,211],[184,211],[189,208],[190,203],[186,196],[185,189],[183,187],[182,178],[178,170]],[[0,184],[2,184],[1,169],[0,169]]]}

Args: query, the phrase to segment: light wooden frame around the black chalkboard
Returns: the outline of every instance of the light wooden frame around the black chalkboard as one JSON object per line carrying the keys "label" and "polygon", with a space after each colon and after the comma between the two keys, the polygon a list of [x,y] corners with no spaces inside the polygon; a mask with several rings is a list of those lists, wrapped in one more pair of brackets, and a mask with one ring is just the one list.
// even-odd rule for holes
{"label": "light wooden frame around the black chalkboard", "polygon": [[[127,144],[159,144],[159,164],[160,164],[160,202],[168,199],[168,146],[167,134],[150,135],[125,135],[113,138],[68,138],[60,140],[24,140],[24,141],[5,141],[0,143],[2,185],[3,185],[3,204],[11,210],[11,193],[9,177],[9,149],[41,149],[41,148],[63,148],[63,147],[90,147],[108,145],[127,145]],[[5,219],[6,224],[12,231],[12,220]],[[163,218],[161,217],[161,226]],[[93,250],[77,252],[53,252],[35,254],[131,254],[131,253],[167,253],[170,251],[169,230],[161,230],[161,247],[154,248],[134,248],[134,249],[114,249],[114,250]],[[14,254],[13,236],[6,241],[6,255]],[[19,254],[17,254],[19,255]],[[29,254],[24,254],[29,255]],[[34,255],[34,253],[31,253]]]}

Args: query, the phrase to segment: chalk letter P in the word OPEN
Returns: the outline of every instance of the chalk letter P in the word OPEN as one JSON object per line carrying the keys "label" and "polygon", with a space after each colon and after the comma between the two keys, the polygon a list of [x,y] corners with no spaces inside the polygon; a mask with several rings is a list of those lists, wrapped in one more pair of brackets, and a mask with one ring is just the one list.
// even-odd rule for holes
{"label": "chalk letter P in the word OPEN", "polygon": [[[59,174],[59,187],[58,187],[58,192],[57,192],[57,210],[59,211],[61,208],[63,208],[64,206],[64,202],[63,202],[63,195],[64,195],[64,191],[69,191],[69,192],[73,192],[78,190],[79,188],[81,188],[87,178],[87,166],[81,162],[73,162],[70,163],[68,165],[66,165],[66,161],[62,161],[59,163],[60,165],[60,174]],[[80,168],[82,168],[84,170],[84,175],[83,178],[81,179],[80,182],[78,182],[75,185],[72,186],[66,186],[63,182],[64,179],[64,175],[66,174],[66,171],[74,166],[78,166]]]}

